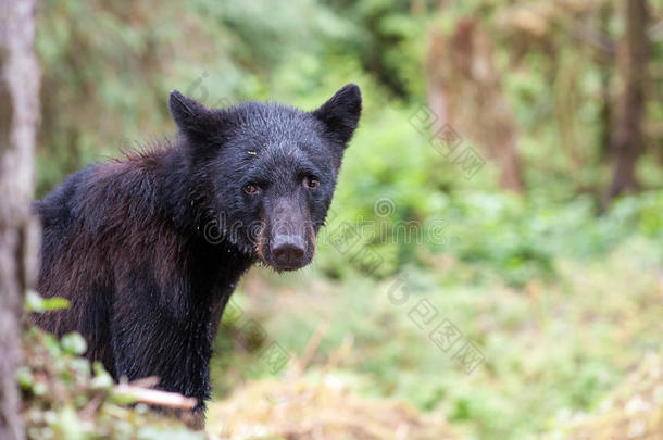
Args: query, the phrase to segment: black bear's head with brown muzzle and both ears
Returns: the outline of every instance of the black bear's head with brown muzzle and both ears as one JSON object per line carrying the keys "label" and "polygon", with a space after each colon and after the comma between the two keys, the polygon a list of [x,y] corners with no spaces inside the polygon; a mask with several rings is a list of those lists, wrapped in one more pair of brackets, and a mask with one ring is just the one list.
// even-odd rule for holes
{"label": "black bear's head with brown muzzle and both ears", "polygon": [[361,102],[354,84],[312,112],[264,102],[208,109],[172,91],[187,166],[205,180],[202,209],[223,239],[276,271],[309,264]]}

